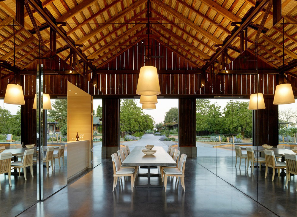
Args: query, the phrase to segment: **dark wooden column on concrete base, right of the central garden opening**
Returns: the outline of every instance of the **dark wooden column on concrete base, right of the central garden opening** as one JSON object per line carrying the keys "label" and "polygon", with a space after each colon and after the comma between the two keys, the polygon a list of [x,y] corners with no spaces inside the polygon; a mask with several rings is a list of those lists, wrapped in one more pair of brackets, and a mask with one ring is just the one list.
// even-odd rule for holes
{"label": "dark wooden column on concrete base, right of the central garden opening", "polygon": [[197,156],[196,99],[178,99],[178,145],[181,153]]}

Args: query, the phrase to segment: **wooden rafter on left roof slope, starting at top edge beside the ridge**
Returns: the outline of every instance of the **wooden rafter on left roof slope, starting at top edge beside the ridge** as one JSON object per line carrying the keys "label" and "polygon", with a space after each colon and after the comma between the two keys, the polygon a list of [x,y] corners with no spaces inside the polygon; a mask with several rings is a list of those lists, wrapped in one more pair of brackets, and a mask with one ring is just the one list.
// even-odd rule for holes
{"label": "wooden rafter on left roof slope, starting at top edge beside the ridge", "polygon": [[83,36],[81,39],[79,39],[77,42],[75,42],[75,44],[83,44],[84,42],[86,42],[90,38],[92,38],[95,35],[99,34],[105,28],[110,26],[111,25],[110,23],[115,23],[117,20],[119,20],[120,18],[126,16],[127,14],[129,14],[130,12],[132,12],[133,10],[135,10],[137,7],[141,6],[145,2],[146,2],[146,0],[136,1],[134,4],[130,5],[129,7],[124,9],[123,11],[119,12],[116,16],[114,16],[111,19],[107,20],[106,24],[103,24],[103,25],[95,28],[93,31],[91,31],[88,34],[86,34],[85,36]]}

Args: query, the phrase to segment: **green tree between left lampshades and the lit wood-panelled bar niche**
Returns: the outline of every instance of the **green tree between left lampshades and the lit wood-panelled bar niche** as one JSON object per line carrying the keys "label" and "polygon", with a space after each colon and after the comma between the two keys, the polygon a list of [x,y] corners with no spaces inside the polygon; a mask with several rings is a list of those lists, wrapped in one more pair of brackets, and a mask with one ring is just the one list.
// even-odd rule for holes
{"label": "green tree between left lampshades and the lit wood-panelled bar niche", "polygon": [[55,102],[52,103],[52,108],[52,110],[48,110],[48,115],[59,122],[57,126],[61,128],[67,125],[67,100],[56,99]]}

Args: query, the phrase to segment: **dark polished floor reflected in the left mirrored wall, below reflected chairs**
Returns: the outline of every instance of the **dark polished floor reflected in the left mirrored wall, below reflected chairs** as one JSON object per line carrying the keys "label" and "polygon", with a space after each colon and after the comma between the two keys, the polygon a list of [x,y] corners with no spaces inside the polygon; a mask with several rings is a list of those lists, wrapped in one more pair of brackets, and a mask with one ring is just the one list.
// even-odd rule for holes
{"label": "dark polished floor reflected in the left mirrored wall, below reflected chairs", "polygon": [[[44,198],[49,197],[67,185],[67,150],[65,150],[64,162],[65,166],[63,167],[61,161],[60,168],[59,162],[56,159],[55,169],[52,171],[50,167],[49,173],[46,167],[43,167]],[[18,176],[18,172],[12,172],[12,186],[9,186],[7,174],[0,175],[2,188],[0,190],[0,216],[16,216],[37,203],[36,166],[33,167],[33,178],[31,177],[30,168],[27,168],[26,174],[27,180],[24,178],[23,169],[21,169],[20,176]]]}

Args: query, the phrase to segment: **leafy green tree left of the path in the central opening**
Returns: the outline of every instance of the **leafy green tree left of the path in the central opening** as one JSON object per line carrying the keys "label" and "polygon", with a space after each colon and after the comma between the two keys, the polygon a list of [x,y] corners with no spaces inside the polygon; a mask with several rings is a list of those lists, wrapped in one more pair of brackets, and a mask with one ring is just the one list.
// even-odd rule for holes
{"label": "leafy green tree left of the path in the central opening", "polygon": [[133,99],[121,100],[120,130],[123,134],[152,129],[154,129],[154,119],[150,115],[144,114]]}

